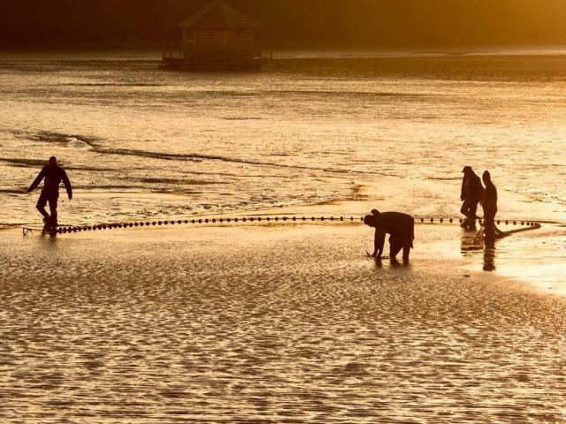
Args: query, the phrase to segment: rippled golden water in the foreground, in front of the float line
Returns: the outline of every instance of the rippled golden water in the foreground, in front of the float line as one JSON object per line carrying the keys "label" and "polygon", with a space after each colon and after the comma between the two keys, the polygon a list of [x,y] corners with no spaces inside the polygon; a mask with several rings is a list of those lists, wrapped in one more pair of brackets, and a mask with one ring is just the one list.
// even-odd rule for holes
{"label": "rippled golden water in the foreground, in front of the float line", "polygon": [[458,240],[379,268],[351,225],[3,231],[0,421],[564,422],[566,299]]}

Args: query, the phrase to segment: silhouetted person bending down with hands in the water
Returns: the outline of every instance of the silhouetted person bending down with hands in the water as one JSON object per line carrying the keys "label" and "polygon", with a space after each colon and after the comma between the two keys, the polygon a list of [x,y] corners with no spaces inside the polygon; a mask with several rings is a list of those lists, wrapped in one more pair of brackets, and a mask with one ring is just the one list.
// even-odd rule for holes
{"label": "silhouetted person bending down with hands in the water", "polygon": [[415,239],[415,218],[401,212],[379,213],[374,209],[371,215],[363,218],[363,223],[375,228],[374,250],[372,257],[381,260],[386,234],[389,234],[389,259],[397,261],[397,254],[403,250],[403,262],[409,261],[410,249]]}

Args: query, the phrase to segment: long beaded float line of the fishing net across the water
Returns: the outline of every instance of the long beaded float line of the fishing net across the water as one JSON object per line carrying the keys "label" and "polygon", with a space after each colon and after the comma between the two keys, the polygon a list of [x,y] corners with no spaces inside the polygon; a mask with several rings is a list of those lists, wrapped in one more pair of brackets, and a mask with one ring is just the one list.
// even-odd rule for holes
{"label": "long beaded float line of the fishing net across the water", "polygon": [[[194,217],[191,219],[170,219],[158,221],[137,221],[122,223],[97,223],[95,225],[68,225],[57,228],[57,233],[67,234],[82,231],[106,231],[128,228],[145,228],[145,227],[164,227],[173,225],[203,225],[203,224],[248,224],[248,223],[363,223],[363,216],[246,216],[246,217],[228,217],[228,218],[205,218]],[[482,220],[478,220],[481,224]],[[416,218],[416,224],[448,224],[463,223],[462,218]],[[526,225],[526,228],[520,231],[529,231],[540,228],[540,224],[531,220],[497,220],[496,223],[501,225]],[[516,231],[519,232],[519,231]]]}

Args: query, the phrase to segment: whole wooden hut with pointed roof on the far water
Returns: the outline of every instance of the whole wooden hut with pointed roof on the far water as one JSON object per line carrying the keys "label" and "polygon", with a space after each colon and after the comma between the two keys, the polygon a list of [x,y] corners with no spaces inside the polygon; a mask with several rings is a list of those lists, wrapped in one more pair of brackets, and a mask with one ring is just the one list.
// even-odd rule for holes
{"label": "whole wooden hut with pointed roof on the far water", "polygon": [[254,19],[216,0],[173,29],[164,43],[163,67],[187,71],[259,71],[261,28]]}

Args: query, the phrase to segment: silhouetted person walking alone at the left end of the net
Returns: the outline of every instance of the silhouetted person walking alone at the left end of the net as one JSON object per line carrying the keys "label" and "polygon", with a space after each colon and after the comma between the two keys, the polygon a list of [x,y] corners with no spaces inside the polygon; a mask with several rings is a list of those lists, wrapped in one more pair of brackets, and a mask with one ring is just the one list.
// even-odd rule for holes
{"label": "silhouetted person walking alone at the left end of the net", "polygon": [[[37,178],[35,178],[32,185],[27,189],[27,193],[34,191],[35,187],[39,186],[42,179],[45,178],[42,193],[37,201],[36,208],[43,216],[43,223],[50,226],[57,226],[57,200],[59,198],[59,185],[61,181],[65,185],[69,200],[73,199],[73,188],[67,174],[63,168],[57,165],[57,158],[50,157],[49,165],[43,167]],[[50,213],[45,210],[45,206],[49,202]]]}

